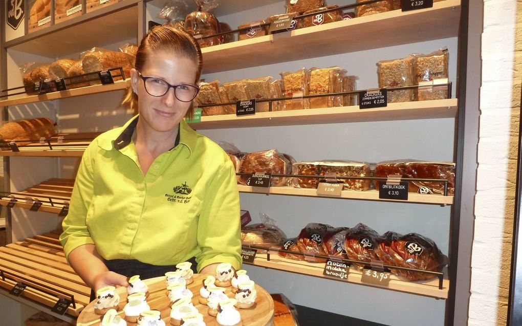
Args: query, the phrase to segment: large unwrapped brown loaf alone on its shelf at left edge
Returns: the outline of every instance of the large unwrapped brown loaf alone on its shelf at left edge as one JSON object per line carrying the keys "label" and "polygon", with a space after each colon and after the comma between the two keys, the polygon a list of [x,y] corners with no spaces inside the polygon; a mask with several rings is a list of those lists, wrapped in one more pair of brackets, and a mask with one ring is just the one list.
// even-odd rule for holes
{"label": "large unwrapped brown loaf alone on its shelf at left edge", "polygon": [[0,126],[2,142],[17,141],[18,146],[28,144],[28,140],[37,141],[41,137],[49,138],[54,135],[55,125],[51,119],[45,117],[10,121]]}

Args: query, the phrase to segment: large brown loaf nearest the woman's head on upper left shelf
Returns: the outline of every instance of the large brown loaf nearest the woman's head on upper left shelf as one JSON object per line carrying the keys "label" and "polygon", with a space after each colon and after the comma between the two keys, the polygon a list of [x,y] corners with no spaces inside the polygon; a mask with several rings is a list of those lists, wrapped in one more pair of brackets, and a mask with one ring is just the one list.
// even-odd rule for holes
{"label": "large brown loaf nearest the woman's head on upper left shelf", "polygon": [[[84,55],[81,62],[85,73],[94,73],[100,70],[122,67],[125,78],[131,77],[131,69],[133,68],[132,56],[120,51],[89,52]],[[118,74],[120,74],[119,71],[112,71],[113,76]],[[120,79],[122,78],[114,78],[114,80]]]}

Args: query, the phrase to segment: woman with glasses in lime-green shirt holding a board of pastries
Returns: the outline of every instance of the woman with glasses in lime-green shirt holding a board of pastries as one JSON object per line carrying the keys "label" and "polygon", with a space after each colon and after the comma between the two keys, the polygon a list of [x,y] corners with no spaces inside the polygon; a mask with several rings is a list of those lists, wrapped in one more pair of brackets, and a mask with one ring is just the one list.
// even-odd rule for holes
{"label": "woman with glasses in lime-green shirt holding a board of pastries", "polygon": [[202,57],[172,27],[141,41],[124,103],[139,115],[94,139],[82,157],[60,236],[67,259],[94,291],[173,271],[241,266],[239,194],[232,162],[192,130]]}

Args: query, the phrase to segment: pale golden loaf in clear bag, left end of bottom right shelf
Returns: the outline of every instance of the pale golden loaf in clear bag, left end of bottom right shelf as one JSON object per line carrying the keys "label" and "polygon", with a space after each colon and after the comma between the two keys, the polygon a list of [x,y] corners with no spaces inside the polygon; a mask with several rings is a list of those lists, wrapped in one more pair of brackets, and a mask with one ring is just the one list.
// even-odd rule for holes
{"label": "pale golden loaf in clear bag, left end of bottom right shelf", "polygon": [[287,236],[274,220],[264,213],[259,215],[262,223],[250,224],[241,228],[241,243],[266,246],[267,248],[280,246]]}

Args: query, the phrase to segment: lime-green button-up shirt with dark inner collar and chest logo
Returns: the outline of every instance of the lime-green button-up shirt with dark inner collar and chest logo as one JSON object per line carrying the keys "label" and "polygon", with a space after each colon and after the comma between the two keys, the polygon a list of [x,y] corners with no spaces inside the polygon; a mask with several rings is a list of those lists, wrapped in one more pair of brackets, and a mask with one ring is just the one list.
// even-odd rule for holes
{"label": "lime-green button-up shirt with dark inner collar and chest logo", "polygon": [[216,262],[239,269],[239,192],[228,155],[182,121],[175,146],[144,176],[131,141],[137,120],[86,149],[60,236],[66,256],[95,244],[108,260],[172,265],[195,256],[198,271]]}

